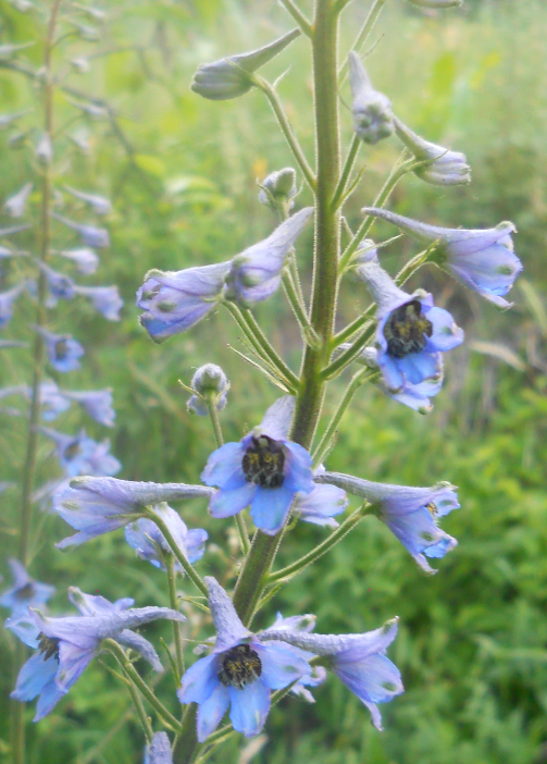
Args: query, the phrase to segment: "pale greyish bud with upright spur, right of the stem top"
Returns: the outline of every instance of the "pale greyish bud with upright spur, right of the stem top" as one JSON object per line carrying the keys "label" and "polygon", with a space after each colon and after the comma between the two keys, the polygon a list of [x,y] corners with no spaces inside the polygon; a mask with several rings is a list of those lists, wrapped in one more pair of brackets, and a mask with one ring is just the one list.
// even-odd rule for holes
{"label": "pale greyish bud with upright spur, right of the stem top", "polygon": [[391,102],[372,87],[361,59],[353,51],[349,54],[349,84],[356,134],[365,144],[376,144],[389,137],[395,130]]}

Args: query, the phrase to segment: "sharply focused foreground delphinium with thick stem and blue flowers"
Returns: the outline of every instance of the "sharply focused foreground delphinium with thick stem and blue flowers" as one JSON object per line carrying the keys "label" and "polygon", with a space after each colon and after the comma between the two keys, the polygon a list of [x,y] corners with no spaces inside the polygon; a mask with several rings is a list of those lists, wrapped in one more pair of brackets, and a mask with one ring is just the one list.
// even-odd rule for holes
{"label": "sharply focused foreground delphinium with thick stem and blue flowers", "polygon": [[[259,734],[271,706],[288,693],[313,700],[313,688],[330,674],[362,701],[374,726],[382,729],[378,704],[403,691],[400,673],[386,654],[397,633],[397,618],[378,624],[374,631],[343,634],[322,633],[321,624],[315,631],[312,614],[285,613],[262,629],[254,619],[283,587],[341,542],[366,515],[384,522],[425,572],[434,572],[431,559],[453,549],[457,542],[440,521],[459,503],[455,486],[435,482],[443,476],[432,476],[430,488],[382,484],[369,481],[364,469],[358,476],[328,471],[328,455],[341,417],[362,385],[373,384],[378,395],[422,414],[442,391],[443,356],[463,342],[463,332],[447,310],[435,306],[433,295],[405,289],[411,276],[431,263],[507,307],[505,295],[521,269],[512,250],[511,223],[467,231],[435,227],[384,210],[408,173],[436,186],[470,182],[465,157],[405,125],[366,73],[361,52],[385,0],[372,2],[349,54],[341,57],[339,24],[350,0],[315,0],[312,19],[294,0],[281,2],[296,22],[295,29],[258,50],[200,66],[191,85],[211,100],[259,91],[270,102],[296,163],[296,169],[281,169],[260,184],[259,200],[278,215],[277,225],[270,236],[223,262],[176,272],[152,270],[137,295],[144,311],[140,322],[156,342],[226,309],[241,332],[250,354],[247,360],[281,395],[264,406],[263,415],[257,416],[260,423],[241,432],[240,441],[224,443],[220,412],[231,383],[216,365],[200,367],[184,384],[190,393],[188,410],[210,418],[217,446],[203,466],[201,482],[158,484],[89,475],[74,478],[55,494],[57,512],[76,531],[59,546],[94,543],[97,537],[125,528],[139,557],[163,571],[170,609],[127,609],[125,600],[112,604],[73,589],[71,597],[80,616],[49,618],[32,609],[12,624],[37,650],[14,691],[21,700],[38,695],[37,718],[55,705],[95,655],[110,652],[140,719],[148,761],[156,764],[204,762],[231,736]],[[414,0],[413,4],[439,9],[458,3]],[[298,141],[275,84],[261,73],[298,37],[304,38],[312,57],[314,162]],[[339,101],[340,94],[346,97],[346,78],[353,137],[343,158]],[[401,158],[352,231],[344,207],[361,178],[362,173],[355,171],[358,156],[363,144],[372,150],[386,139],[402,143]],[[301,184],[314,204],[298,209]],[[381,264],[385,242],[370,238],[376,218],[424,247],[395,278]],[[299,237],[311,226],[313,274],[307,300],[299,278]],[[338,329],[338,289],[349,276],[362,283],[371,304]],[[253,307],[279,287],[301,334],[298,370],[282,358],[253,315]],[[351,381],[331,419],[322,422],[330,383],[352,365]],[[343,518],[348,494],[359,500],[359,506]],[[208,560],[207,533],[186,527],[184,504],[179,512],[171,506],[200,496],[213,518],[234,518],[239,554],[233,592],[198,572],[195,563],[202,558],[204,566]],[[281,545],[300,521],[327,529],[325,535],[310,552],[276,568]],[[181,627],[185,619],[179,612],[181,586],[186,606],[204,629],[197,646],[185,639]],[[152,645],[132,630],[156,617],[173,620],[169,663],[182,704],[178,713],[171,710],[174,699],[160,698],[135,665],[140,654],[153,668],[161,668]]]}

